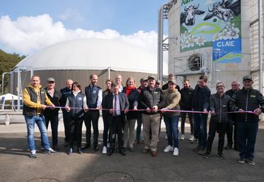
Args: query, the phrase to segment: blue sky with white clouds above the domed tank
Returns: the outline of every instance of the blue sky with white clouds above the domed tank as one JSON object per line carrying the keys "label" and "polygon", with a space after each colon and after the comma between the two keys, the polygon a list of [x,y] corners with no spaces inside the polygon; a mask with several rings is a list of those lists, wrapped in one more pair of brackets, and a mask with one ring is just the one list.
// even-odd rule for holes
{"label": "blue sky with white clouds above the domed tank", "polygon": [[0,49],[31,55],[65,40],[107,38],[122,40],[156,54],[158,11],[167,2],[1,0]]}

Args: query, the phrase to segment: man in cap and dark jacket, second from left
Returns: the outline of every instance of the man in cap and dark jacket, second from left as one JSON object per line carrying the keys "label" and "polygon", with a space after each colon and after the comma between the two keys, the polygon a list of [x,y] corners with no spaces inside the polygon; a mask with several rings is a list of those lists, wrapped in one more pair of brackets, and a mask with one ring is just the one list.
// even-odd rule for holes
{"label": "man in cap and dark jacket, second from left", "polygon": [[[62,94],[54,89],[55,80],[53,78],[47,79],[47,88],[45,89],[47,97],[50,98],[50,101],[54,106],[59,106],[59,98]],[[45,116],[46,127],[49,126],[49,123],[52,127],[52,148],[58,150],[58,125],[59,125],[59,108],[51,109],[46,108],[43,112]]]}

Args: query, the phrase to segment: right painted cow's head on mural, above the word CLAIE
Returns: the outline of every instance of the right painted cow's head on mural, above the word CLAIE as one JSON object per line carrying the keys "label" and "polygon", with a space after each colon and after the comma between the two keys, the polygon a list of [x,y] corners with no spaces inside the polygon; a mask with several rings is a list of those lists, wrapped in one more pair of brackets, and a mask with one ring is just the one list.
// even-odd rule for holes
{"label": "right painted cow's head on mural, above the word CLAIE", "polygon": [[209,13],[205,16],[204,20],[216,16],[224,22],[229,22],[234,16],[238,15],[241,11],[241,1],[240,0],[222,0],[214,2],[208,7]]}

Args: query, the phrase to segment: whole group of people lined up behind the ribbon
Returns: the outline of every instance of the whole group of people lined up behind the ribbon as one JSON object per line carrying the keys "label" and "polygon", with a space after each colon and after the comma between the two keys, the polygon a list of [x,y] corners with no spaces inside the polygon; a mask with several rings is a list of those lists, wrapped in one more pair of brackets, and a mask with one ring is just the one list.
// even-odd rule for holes
{"label": "whole group of people lined up behind the ribbon", "polygon": [[[169,74],[168,83],[161,87],[161,81],[155,76],[136,81],[129,77],[122,86],[122,76],[117,74],[115,80],[105,81],[107,89],[102,91],[98,86],[98,76],[90,76],[90,84],[81,89],[78,82],[67,80],[66,87],[57,91],[55,80],[47,79],[47,87],[40,85],[40,77],[32,76],[29,86],[23,91],[23,115],[28,129],[28,145],[30,157],[36,158],[34,143],[35,123],[40,129],[42,149],[45,154],[56,154],[58,150],[57,127],[58,111],[61,108],[64,121],[64,146],[67,154],[72,154],[74,144],[76,152],[82,154],[84,149],[91,147],[91,126],[93,126],[93,150],[98,151],[98,119],[100,110],[103,115],[103,154],[110,156],[118,149],[122,155],[126,151],[134,151],[134,144],[140,141],[143,125],[143,153],[157,155],[161,117],[166,125],[168,146],[164,152],[179,154],[178,140],[185,139],[185,118],[190,121],[191,142],[198,145],[193,149],[205,159],[210,157],[212,142],[216,133],[219,134],[217,157],[225,159],[223,154],[224,136],[227,135],[225,149],[240,152],[240,163],[248,161],[255,165],[254,147],[258,132],[260,113],[264,111],[264,98],[260,91],[252,88],[251,76],[243,77],[243,88],[239,82],[233,81],[231,89],[224,93],[224,83],[216,84],[217,93],[211,94],[207,86],[207,76],[200,76],[195,89],[185,79],[180,89],[173,74]],[[231,112],[231,113],[230,113]],[[207,136],[207,116],[210,113],[210,126]],[[181,135],[178,134],[178,121],[181,118]],[[81,146],[82,125],[86,125],[86,144]],[[137,130],[134,131],[137,122]],[[47,127],[52,127],[52,147],[47,137]],[[233,127],[234,125],[234,127]],[[136,137],[135,137],[136,133]],[[234,135],[233,135],[234,134]],[[115,147],[117,135],[118,147]],[[136,139],[134,141],[134,139]]]}

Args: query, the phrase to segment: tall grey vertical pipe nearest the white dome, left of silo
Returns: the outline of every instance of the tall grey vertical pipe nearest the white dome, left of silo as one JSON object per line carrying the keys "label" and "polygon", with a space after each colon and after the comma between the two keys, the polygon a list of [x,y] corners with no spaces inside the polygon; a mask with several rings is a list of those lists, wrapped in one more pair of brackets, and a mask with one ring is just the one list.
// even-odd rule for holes
{"label": "tall grey vertical pipe nearest the white dome, left of silo", "polygon": [[163,5],[159,8],[158,22],[158,78],[162,83],[163,79]]}

